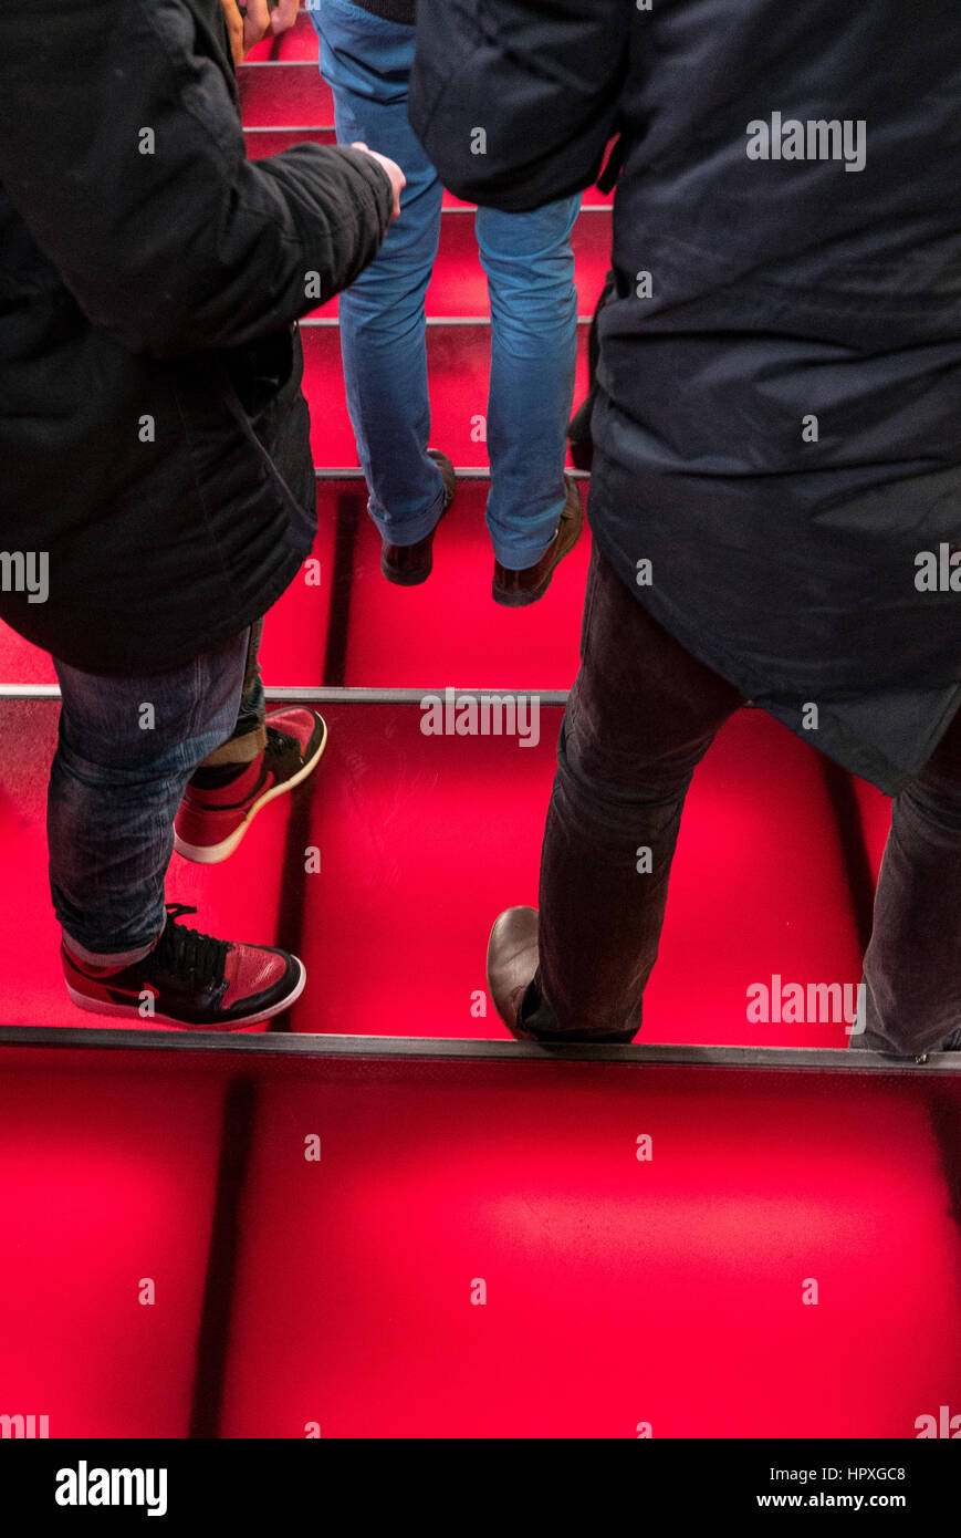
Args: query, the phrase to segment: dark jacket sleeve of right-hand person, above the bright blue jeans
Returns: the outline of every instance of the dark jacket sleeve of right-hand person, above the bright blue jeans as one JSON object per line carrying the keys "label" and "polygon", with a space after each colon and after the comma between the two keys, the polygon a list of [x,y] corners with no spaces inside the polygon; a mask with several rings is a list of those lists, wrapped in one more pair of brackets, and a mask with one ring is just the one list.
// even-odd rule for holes
{"label": "dark jacket sleeve of right-hand person, above the bright blue jeans", "polygon": [[590,186],[633,0],[418,0],[409,114],[458,197],[507,212]]}

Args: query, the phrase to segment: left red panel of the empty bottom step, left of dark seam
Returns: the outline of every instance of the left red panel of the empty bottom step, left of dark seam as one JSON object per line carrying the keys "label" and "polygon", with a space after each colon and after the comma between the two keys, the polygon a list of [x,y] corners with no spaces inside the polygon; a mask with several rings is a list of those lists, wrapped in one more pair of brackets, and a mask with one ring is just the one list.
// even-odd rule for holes
{"label": "left red panel of the empty bottom step, left of dark seam", "polygon": [[3,1047],[0,1413],[189,1433],[223,1098],[197,1064]]}

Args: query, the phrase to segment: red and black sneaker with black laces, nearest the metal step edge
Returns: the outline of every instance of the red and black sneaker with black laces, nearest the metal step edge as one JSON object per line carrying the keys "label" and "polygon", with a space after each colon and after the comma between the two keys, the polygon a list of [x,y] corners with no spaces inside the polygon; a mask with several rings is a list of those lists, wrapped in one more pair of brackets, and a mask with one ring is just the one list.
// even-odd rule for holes
{"label": "red and black sneaker with black laces, nearest the metal step edge", "polygon": [[166,912],[154,949],[118,970],[88,966],[63,944],[66,989],[80,1009],[181,1030],[241,1030],[280,1015],[303,994],[308,974],[297,957],[183,929],[177,920],[197,912],[183,903],[168,903]]}

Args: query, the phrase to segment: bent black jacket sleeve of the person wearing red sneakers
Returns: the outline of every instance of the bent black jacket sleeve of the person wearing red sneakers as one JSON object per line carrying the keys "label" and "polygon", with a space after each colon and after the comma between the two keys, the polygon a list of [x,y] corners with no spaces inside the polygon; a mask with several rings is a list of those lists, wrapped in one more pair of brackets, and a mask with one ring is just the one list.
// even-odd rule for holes
{"label": "bent black jacket sleeve of the person wearing red sneakers", "polygon": [[360,151],[248,161],[218,0],[0,8],[0,183],[97,325],[171,357],[254,341],[377,254],[391,183]]}

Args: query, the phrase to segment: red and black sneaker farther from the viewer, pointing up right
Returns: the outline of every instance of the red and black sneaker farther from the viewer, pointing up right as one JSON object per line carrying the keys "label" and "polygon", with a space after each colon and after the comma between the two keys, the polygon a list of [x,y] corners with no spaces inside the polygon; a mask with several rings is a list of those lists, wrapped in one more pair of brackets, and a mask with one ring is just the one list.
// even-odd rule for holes
{"label": "red and black sneaker farther from the viewer, pointing up right", "polygon": [[197,769],[174,818],[174,849],[198,864],[217,864],[277,795],[292,791],[320,763],[328,727],[317,711],[268,715],[268,746],[249,764]]}

